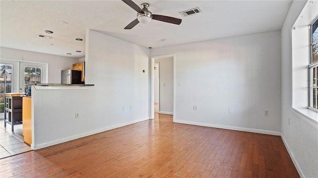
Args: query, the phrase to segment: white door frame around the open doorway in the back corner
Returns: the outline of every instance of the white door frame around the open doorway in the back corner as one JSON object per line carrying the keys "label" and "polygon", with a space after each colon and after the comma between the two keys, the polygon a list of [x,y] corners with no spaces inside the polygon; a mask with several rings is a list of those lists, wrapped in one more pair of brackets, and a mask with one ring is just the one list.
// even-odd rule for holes
{"label": "white door frame around the open doorway in the back corner", "polygon": [[154,72],[154,65],[155,65],[155,59],[158,58],[166,58],[166,57],[172,57],[173,58],[173,103],[172,103],[172,120],[174,122],[175,120],[175,54],[165,54],[165,55],[158,55],[158,56],[151,56],[151,67],[150,67],[150,89],[151,89],[151,95],[150,95],[150,119],[155,119],[155,72]]}

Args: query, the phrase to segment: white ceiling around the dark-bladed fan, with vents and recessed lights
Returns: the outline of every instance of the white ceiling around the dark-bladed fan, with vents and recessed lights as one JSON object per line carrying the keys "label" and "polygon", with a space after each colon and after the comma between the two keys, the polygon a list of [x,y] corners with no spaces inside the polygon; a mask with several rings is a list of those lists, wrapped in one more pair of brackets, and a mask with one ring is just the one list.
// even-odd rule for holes
{"label": "white ceiling around the dark-bladed fan, with vents and recessed lights", "polygon": [[[121,0],[1,0],[0,46],[79,58],[85,55],[86,29],[153,48],[275,31],[281,29],[292,0],[134,2],[148,2],[153,14],[180,18],[182,22],[174,25],[152,20],[125,30],[137,12]],[[179,14],[195,7],[202,13],[187,17]],[[46,34],[45,30],[54,33]],[[36,37],[37,34],[53,38]]]}

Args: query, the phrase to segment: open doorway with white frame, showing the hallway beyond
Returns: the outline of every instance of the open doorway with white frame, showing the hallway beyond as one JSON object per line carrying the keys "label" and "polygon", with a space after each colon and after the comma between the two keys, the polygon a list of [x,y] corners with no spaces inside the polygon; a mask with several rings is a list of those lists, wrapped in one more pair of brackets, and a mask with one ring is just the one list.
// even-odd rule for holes
{"label": "open doorway with white frame, showing the hallway beyond", "polygon": [[[174,120],[174,93],[175,93],[175,55],[160,55],[151,57],[151,116],[154,113],[173,115]],[[156,68],[157,67],[157,68]]]}

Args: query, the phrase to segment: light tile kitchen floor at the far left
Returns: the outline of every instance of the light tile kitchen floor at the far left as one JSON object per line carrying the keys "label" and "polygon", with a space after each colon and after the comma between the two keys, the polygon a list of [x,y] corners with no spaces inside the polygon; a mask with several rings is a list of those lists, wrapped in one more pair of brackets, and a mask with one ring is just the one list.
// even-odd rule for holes
{"label": "light tile kitchen floor at the far left", "polygon": [[30,146],[23,142],[22,125],[14,126],[12,132],[11,125],[4,127],[4,120],[0,120],[0,159],[31,150]]}

